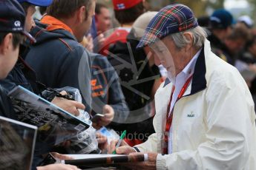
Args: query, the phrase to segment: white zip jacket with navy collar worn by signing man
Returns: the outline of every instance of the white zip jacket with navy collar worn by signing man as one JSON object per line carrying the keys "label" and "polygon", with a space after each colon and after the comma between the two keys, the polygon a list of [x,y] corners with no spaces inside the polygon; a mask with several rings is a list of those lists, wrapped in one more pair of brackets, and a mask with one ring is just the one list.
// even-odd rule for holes
{"label": "white zip jacket with navy collar worn by signing man", "polygon": [[[161,153],[172,84],[155,95],[155,134],[137,145]],[[256,169],[256,128],[252,95],[236,68],[211,52],[206,40],[186,92],[174,105],[172,154],[158,154],[157,169]]]}

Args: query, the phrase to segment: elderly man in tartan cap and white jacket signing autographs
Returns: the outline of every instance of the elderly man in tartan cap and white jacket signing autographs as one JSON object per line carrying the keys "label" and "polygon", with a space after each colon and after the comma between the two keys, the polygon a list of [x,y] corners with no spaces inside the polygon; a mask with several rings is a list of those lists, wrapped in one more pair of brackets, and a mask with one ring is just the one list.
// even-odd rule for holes
{"label": "elderly man in tartan cap and white jacket signing autographs", "polygon": [[256,169],[249,89],[237,69],[211,52],[192,11],[183,4],[164,7],[138,45],[145,46],[168,70],[155,95],[156,133],[134,148],[122,143],[116,153],[148,153],[135,169]]}

